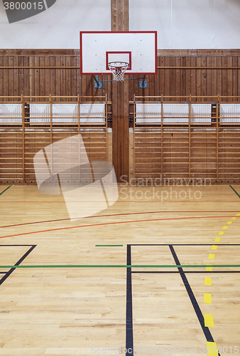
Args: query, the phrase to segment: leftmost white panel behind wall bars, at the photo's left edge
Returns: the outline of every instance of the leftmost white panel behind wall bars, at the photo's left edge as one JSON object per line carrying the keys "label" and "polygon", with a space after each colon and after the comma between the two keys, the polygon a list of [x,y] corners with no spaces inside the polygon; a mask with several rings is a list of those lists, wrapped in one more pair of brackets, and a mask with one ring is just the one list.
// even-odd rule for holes
{"label": "leftmost white panel behind wall bars, at the photo's left edge", "polygon": [[16,124],[22,122],[21,104],[0,104],[0,122]]}

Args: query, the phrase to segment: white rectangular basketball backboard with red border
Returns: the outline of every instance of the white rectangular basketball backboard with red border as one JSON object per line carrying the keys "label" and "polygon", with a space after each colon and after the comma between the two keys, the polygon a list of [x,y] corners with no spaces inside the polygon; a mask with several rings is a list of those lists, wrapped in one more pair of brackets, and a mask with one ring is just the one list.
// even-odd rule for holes
{"label": "white rectangular basketball backboard with red border", "polygon": [[129,63],[125,74],[156,74],[157,32],[80,32],[81,74],[111,74],[113,61]]}

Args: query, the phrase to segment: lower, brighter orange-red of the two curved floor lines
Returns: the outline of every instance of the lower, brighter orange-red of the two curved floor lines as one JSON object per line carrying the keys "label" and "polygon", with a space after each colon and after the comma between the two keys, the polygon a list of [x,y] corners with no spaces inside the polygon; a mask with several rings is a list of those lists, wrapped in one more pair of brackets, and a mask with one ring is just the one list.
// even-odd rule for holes
{"label": "lower, brighter orange-red of the two curved floor lines", "polygon": [[58,229],[48,229],[48,230],[41,230],[41,231],[31,231],[26,232],[23,234],[14,234],[8,236],[1,236],[0,239],[6,239],[6,237],[14,237],[14,236],[26,236],[30,234],[40,234],[41,232],[50,232],[50,231],[60,231],[60,230],[67,230],[67,229],[77,229],[79,227],[91,227],[91,226],[104,226],[104,225],[116,225],[116,224],[131,224],[131,223],[139,223],[139,222],[146,222],[146,221],[167,221],[167,220],[182,220],[182,219],[214,219],[214,218],[231,218],[230,216],[190,216],[190,217],[182,217],[182,218],[168,218],[168,219],[147,219],[147,220],[130,220],[130,221],[116,221],[111,223],[102,223],[102,224],[90,224],[90,225],[78,225],[78,226],[67,226],[61,227]]}

